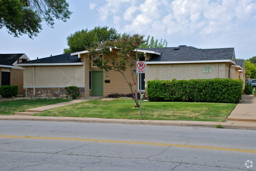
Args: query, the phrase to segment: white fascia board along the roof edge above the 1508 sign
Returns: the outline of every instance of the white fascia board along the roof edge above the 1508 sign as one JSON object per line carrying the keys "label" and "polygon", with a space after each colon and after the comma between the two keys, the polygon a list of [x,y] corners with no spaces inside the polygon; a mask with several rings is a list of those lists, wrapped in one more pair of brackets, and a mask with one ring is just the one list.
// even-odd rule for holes
{"label": "white fascia board along the roof edge above the 1508 sign", "polygon": [[227,63],[231,62],[236,64],[231,59],[224,59],[224,60],[202,60],[202,61],[146,61],[146,64],[184,64],[184,63]]}

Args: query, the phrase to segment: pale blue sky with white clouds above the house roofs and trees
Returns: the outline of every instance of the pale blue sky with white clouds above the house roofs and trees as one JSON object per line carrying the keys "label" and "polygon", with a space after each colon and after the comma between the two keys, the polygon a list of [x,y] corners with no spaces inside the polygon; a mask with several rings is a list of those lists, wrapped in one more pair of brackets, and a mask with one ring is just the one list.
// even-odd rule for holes
{"label": "pale blue sky with white clouds above the house roofs and trees", "polygon": [[256,55],[255,0],[69,0],[73,14],[55,21],[38,37],[19,38],[0,29],[0,53],[26,53],[31,59],[59,55],[67,36],[81,29],[109,26],[120,33],[166,39],[168,47],[235,48],[236,58]]}

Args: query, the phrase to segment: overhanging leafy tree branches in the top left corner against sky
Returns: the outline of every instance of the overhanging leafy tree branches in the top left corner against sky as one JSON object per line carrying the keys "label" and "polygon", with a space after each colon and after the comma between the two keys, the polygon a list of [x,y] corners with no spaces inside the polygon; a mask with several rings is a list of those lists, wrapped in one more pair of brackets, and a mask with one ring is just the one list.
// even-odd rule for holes
{"label": "overhanging leafy tree branches in the top left corner against sky", "polygon": [[0,0],[0,29],[32,38],[40,33],[43,20],[53,28],[54,18],[66,22],[71,14],[66,0]]}

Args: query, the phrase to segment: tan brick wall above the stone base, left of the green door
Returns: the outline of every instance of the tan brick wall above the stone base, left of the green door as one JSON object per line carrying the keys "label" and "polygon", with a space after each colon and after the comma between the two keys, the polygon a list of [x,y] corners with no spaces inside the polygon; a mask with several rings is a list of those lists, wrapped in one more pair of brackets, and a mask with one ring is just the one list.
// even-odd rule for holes
{"label": "tan brick wall above the stone base, left of the green door", "polygon": [[[84,86],[84,67],[35,66],[35,86]],[[33,67],[24,67],[24,86],[33,86]]]}

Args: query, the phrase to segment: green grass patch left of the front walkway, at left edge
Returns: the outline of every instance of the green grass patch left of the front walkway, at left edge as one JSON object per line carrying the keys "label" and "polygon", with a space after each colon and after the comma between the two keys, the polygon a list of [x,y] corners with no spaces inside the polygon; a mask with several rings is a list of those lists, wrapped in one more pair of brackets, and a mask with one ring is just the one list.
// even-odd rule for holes
{"label": "green grass patch left of the front walkway, at left edge", "polygon": [[0,115],[12,115],[25,109],[70,101],[70,99],[18,99],[0,101]]}

